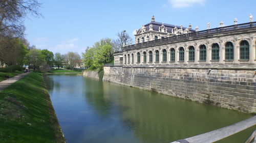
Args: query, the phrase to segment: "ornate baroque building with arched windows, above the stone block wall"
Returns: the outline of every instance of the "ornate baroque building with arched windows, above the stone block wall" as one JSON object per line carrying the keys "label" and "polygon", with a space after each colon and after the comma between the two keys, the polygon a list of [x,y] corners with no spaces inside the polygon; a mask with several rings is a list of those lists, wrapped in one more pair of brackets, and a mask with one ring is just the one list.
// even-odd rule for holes
{"label": "ornate baroque building with arched windows, above the stone block wall", "polygon": [[[152,21],[136,31],[136,44],[123,47],[118,54],[122,66],[223,66],[249,65],[256,62],[256,22],[198,31]],[[114,54],[117,56],[117,54]],[[118,59],[117,58],[117,59]]]}

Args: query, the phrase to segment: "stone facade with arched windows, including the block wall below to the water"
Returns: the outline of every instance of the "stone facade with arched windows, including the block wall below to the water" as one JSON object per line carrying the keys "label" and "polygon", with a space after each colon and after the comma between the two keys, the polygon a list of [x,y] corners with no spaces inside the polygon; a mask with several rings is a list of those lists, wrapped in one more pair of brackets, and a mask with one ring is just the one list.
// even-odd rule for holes
{"label": "stone facade with arched windows, including the block wall below to the water", "polygon": [[[255,113],[256,22],[236,22],[125,46],[122,66],[104,66],[103,80]],[[142,29],[136,38],[154,33]]]}

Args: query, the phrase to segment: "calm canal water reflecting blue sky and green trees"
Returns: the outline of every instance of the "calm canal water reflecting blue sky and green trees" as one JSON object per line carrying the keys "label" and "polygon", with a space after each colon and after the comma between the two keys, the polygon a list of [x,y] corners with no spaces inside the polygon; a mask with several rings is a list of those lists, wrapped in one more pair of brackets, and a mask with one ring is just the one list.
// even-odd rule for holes
{"label": "calm canal water reflecting blue sky and green trees", "polygon": [[[252,117],[76,74],[45,81],[68,143],[167,143]],[[244,142],[254,128],[218,142]]]}

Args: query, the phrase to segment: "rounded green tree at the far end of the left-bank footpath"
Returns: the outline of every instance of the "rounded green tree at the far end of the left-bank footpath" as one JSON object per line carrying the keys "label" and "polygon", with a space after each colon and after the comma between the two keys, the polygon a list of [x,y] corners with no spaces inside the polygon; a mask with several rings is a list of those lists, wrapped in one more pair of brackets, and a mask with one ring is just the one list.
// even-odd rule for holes
{"label": "rounded green tree at the far end of the left-bank footpath", "polygon": [[45,56],[42,54],[39,49],[31,49],[26,54],[26,63],[33,67],[33,70],[39,69],[40,66],[46,63]]}

